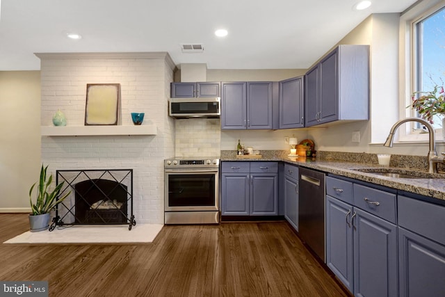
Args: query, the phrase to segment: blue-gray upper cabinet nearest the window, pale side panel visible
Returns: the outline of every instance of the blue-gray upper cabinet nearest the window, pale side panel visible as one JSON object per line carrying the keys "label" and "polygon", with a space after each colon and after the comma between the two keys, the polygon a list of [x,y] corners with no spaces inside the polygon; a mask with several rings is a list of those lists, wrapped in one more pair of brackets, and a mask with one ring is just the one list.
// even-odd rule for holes
{"label": "blue-gray upper cabinet nearest the window, pale side panel visible", "polygon": [[369,120],[369,45],[339,45],[305,74],[305,127]]}

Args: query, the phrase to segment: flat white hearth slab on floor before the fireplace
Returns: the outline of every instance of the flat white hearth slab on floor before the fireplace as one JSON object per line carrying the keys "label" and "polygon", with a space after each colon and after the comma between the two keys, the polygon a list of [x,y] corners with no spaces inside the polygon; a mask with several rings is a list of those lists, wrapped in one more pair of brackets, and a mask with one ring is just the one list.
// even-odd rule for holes
{"label": "flat white hearth slab on floor before the fireplace", "polygon": [[150,243],[161,224],[58,226],[53,231],[24,232],[3,243]]}

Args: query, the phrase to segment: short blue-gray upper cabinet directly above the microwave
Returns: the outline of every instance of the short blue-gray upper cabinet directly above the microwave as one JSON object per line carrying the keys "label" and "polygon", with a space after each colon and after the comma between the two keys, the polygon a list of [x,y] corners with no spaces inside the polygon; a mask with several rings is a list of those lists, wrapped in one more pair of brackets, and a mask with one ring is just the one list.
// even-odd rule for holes
{"label": "short blue-gray upper cabinet directly above the microwave", "polygon": [[172,98],[220,97],[220,83],[171,83],[170,93]]}

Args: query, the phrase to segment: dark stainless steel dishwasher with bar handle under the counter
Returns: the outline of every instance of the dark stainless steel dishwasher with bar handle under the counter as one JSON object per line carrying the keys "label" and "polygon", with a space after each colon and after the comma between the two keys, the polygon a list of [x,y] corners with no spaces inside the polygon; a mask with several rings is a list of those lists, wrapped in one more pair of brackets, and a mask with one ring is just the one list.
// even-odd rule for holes
{"label": "dark stainless steel dishwasher with bar handle under the counter", "polygon": [[300,167],[298,233],[325,261],[325,173]]}

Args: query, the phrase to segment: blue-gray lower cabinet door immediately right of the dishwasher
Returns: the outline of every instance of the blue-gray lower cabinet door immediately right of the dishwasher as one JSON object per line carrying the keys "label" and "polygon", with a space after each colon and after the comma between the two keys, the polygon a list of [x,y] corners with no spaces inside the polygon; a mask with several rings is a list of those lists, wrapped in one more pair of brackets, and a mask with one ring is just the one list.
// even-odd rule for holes
{"label": "blue-gray lower cabinet door immediately right of the dishwasher", "polygon": [[353,292],[353,207],[326,195],[326,264]]}

